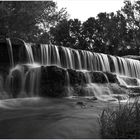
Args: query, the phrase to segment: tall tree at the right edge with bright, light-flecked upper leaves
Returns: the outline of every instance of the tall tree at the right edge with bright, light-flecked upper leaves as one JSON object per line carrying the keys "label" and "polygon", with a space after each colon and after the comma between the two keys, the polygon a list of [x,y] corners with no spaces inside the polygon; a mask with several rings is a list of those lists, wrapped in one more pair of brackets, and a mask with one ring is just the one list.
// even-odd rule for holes
{"label": "tall tree at the right edge with bright, light-flecked upper leaves", "polygon": [[140,1],[132,3],[129,0],[124,2],[121,9],[126,17],[128,34],[131,37],[131,46],[136,49],[137,55],[140,54]]}

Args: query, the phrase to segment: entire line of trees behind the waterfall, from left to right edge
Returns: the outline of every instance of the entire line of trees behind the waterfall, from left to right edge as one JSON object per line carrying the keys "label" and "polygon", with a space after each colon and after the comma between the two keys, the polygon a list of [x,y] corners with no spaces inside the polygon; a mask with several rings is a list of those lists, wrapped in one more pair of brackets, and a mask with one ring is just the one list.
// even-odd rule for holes
{"label": "entire line of trees behind the waterfall, from left to right edge", "polygon": [[115,13],[99,13],[83,23],[69,19],[53,1],[1,1],[0,15],[1,37],[120,56],[140,54],[139,0],[124,1]]}

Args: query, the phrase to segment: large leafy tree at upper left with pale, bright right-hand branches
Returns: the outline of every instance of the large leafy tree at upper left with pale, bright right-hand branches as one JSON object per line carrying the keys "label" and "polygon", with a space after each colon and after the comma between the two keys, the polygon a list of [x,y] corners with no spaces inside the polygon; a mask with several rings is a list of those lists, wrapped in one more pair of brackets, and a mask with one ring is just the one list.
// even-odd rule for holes
{"label": "large leafy tree at upper left with pale, bright right-hand branches", "polygon": [[51,26],[67,17],[65,9],[57,11],[53,1],[2,1],[0,15],[1,36],[30,42],[41,40]]}

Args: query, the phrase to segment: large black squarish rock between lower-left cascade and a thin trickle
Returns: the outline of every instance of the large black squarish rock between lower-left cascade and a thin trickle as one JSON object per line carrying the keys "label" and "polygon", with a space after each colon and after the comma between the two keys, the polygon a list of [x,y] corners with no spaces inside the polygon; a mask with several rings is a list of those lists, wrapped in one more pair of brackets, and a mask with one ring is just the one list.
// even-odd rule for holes
{"label": "large black squarish rock between lower-left cascade and a thin trickle", "polygon": [[66,86],[65,69],[56,66],[41,67],[40,96],[67,96]]}

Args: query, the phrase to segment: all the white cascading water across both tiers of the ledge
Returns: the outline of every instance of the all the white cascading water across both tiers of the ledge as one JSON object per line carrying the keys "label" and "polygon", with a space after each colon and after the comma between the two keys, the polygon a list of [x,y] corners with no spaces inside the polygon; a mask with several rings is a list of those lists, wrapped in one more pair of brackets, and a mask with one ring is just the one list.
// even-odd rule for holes
{"label": "all the white cascading water across both tiers of the ledge", "polygon": [[[12,66],[14,66],[13,52],[12,52],[12,43],[10,39],[7,40],[10,44],[10,60]],[[40,67],[56,65],[65,69],[74,69],[84,73],[86,82],[88,83],[87,87],[94,91],[94,94],[101,99],[101,89],[99,85],[92,84],[91,77],[87,71],[100,71],[100,72],[110,72],[117,75],[118,81],[120,84],[125,86],[128,85],[125,77],[131,77],[140,79],[140,62],[137,60],[115,57],[111,55],[106,55],[102,53],[92,53],[84,50],[74,50],[71,48],[57,47],[55,45],[46,45],[41,44],[37,50],[34,50],[33,44],[24,43],[26,55],[28,62],[26,65],[18,64],[13,67],[7,77],[7,89],[15,93],[15,96],[23,95],[23,93],[28,94],[28,96],[37,95],[39,78],[40,78]],[[34,52],[37,52],[34,53]],[[37,61],[36,61],[37,60]],[[37,64],[38,63],[38,64]],[[66,73],[67,76],[67,86],[69,85],[69,73]],[[105,75],[106,76],[106,75]],[[17,81],[14,81],[17,80]],[[107,79],[107,77],[106,77]],[[107,79],[108,81],[108,79]],[[18,84],[18,85],[16,85]],[[14,85],[14,86],[13,86]],[[13,87],[18,88],[13,88]],[[131,84],[129,84],[131,86]],[[139,84],[137,84],[139,86]],[[69,88],[70,90],[70,88]],[[104,93],[111,95],[108,88],[102,88]],[[103,96],[102,96],[103,97]],[[104,100],[102,98],[102,100]]]}

